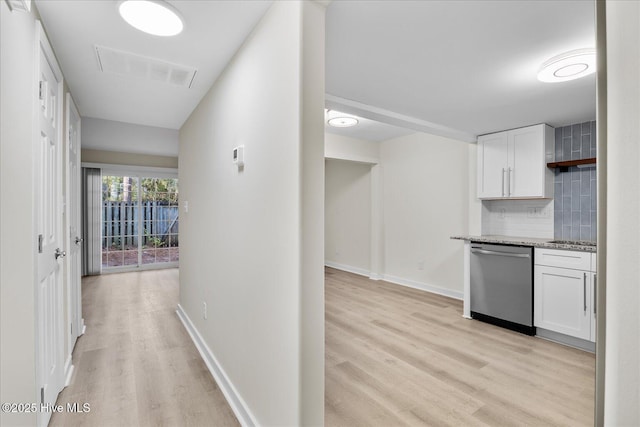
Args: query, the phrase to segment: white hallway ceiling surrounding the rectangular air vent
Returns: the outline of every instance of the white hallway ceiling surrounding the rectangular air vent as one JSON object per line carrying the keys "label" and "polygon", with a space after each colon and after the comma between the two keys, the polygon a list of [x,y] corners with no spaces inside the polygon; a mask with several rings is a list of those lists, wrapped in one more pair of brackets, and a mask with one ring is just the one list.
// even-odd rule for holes
{"label": "white hallway ceiling surrounding the rectangular air vent", "polygon": [[[118,14],[116,0],[36,0],[80,114],[179,129],[272,1],[169,1],[182,14],[175,37],[145,34]],[[100,71],[95,45],[186,67],[191,88]]]}

